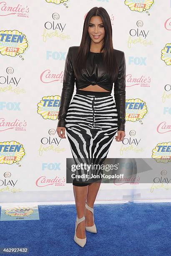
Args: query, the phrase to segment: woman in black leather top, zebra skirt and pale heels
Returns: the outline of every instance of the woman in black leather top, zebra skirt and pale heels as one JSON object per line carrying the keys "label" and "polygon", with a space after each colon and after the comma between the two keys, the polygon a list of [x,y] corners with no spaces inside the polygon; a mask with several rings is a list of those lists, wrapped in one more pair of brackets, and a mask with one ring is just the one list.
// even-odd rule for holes
{"label": "woman in black leather top, zebra skirt and pale heels", "polygon": [[[86,15],[80,46],[69,47],[58,113],[58,136],[66,138],[66,129],[75,162],[102,164],[116,132],[116,141],[123,141],[125,79],[125,55],[113,49],[110,17],[104,8],[94,7]],[[111,95],[113,82],[115,102]],[[71,101],[74,84],[76,94]],[[87,170],[78,172],[83,173]],[[91,174],[99,173],[101,169],[91,169]],[[100,184],[99,177],[73,179],[77,211],[74,241],[82,247],[86,243],[85,229],[97,233],[93,205]]]}

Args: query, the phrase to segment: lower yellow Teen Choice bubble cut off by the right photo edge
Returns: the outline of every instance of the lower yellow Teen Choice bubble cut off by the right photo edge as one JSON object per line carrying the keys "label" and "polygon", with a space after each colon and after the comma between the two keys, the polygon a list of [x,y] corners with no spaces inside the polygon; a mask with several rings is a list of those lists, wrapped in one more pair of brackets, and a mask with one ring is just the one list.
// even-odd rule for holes
{"label": "lower yellow Teen Choice bubble cut off by the right photo edge", "polygon": [[171,162],[171,142],[158,143],[152,151],[152,158],[157,163],[168,163]]}

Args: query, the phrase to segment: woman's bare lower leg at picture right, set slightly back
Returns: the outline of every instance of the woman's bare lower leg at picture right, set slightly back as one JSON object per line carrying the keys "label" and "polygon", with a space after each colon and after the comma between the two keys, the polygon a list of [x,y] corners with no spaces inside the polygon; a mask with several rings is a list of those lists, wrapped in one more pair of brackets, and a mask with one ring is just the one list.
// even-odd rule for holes
{"label": "woman's bare lower leg at picture right, set slightly back", "polygon": [[[98,190],[101,185],[101,180],[98,180],[97,182],[93,182],[88,185],[88,195],[87,195],[87,204],[91,208],[94,206],[94,202],[96,200],[96,196],[98,194]],[[90,210],[88,210],[86,207],[84,208],[84,215],[85,215],[85,225],[87,227],[93,226],[93,214]]]}

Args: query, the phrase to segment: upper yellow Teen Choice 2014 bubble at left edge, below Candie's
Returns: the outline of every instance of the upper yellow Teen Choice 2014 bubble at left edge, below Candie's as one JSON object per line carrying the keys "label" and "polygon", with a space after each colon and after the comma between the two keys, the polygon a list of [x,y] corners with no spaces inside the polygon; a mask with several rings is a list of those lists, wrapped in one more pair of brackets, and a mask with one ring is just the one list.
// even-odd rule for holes
{"label": "upper yellow Teen Choice 2014 bubble at left edge, below Candie's", "polygon": [[15,57],[23,54],[28,43],[25,35],[18,30],[0,31],[0,54]]}

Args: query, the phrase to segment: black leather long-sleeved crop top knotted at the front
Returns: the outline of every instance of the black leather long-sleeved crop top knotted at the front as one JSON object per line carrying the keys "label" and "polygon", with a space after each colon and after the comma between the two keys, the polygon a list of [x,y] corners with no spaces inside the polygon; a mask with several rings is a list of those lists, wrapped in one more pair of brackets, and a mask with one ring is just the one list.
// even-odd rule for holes
{"label": "black leather long-sleeved crop top knotted at the front", "polygon": [[[83,74],[81,74],[79,81],[75,79],[73,64],[76,59],[78,48],[79,46],[70,46],[66,56],[57,127],[65,127],[65,117],[73,96],[74,84],[76,85],[76,89],[82,89],[91,84],[98,84],[108,91],[112,91],[113,88],[114,81],[109,80],[106,67],[103,65],[103,52],[94,53],[90,51],[86,61],[86,68],[83,69]],[[125,131],[126,60],[123,51],[113,50],[118,64],[118,75],[116,82],[114,82],[114,98],[118,113],[118,131]]]}

